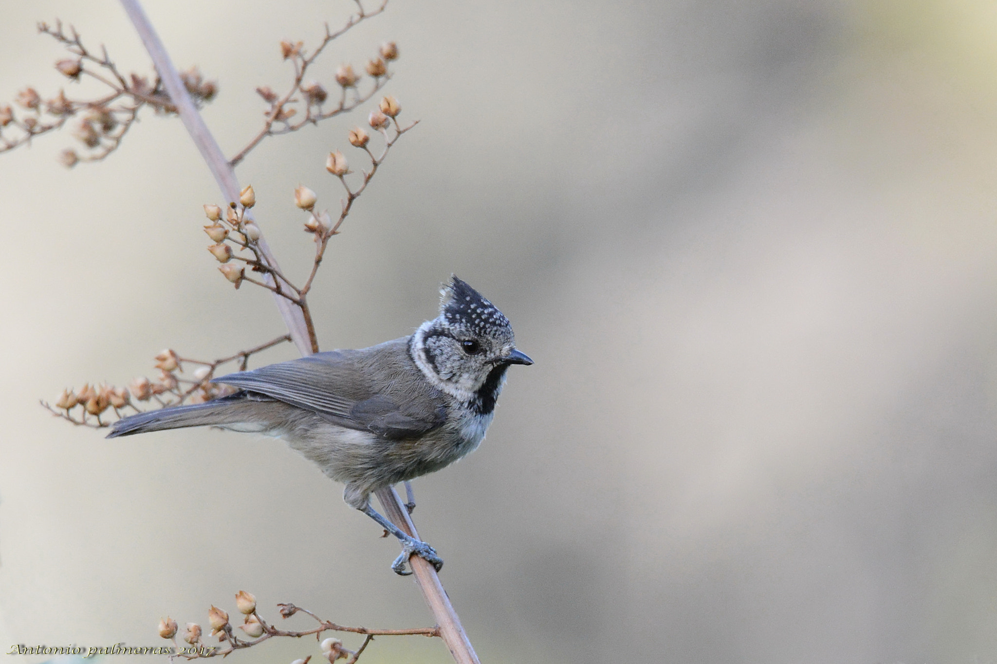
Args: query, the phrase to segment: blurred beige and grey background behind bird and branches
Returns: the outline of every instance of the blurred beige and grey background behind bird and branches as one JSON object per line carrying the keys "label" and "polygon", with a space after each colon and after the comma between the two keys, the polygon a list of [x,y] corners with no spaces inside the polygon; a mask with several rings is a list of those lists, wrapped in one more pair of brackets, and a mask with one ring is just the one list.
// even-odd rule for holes
{"label": "blurred beige and grey background behind bird and branches", "polygon": [[[278,42],[352,9],[146,6],[177,65],[218,80],[203,114],[227,154],[260,126],[253,89],[289,81]],[[0,99],[65,86],[35,30],[55,18],[151,71],[115,2],[8,3]],[[481,449],[415,482],[483,661],[997,661],[997,5],[393,0],[318,80],[388,39],[387,92],[422,122],[311,302],[323,348],[361,347],[434,317],[453,272],[536,360]],[[312,252],[292,189],[335,209],[325,155],[358,163],[367,107],[239,167],[292,274]],[[109,441],[38,406],[155,375],[166,346],[217,357],[283,330],[204,251],[201,205],[223,201],[178,120],[146,112],[67,170],[73,142],[0,156],[3,652],[158,645],[161,616],[206,623],[239,589],[272,619],[292,601],[431,624],[397,544],[280,441]],[[406,637],[361,661],[450,660]]]}

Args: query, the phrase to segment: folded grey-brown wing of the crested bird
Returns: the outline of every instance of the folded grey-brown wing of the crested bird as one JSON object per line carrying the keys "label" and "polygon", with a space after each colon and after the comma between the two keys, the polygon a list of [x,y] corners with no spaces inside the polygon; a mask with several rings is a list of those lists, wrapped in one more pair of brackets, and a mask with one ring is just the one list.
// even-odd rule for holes
{"label": "folded grey-brown wing of the crested bird", "polygon": [[319,352],[251,371],[230,373],[212,382],[266,394],[314,411],[335,424],[372,431],[387,438],[418,436],[443,425],[446,411],[442,407],[412,412],[377,393],[370,378],[358,370],[350,354],[339,350]]}

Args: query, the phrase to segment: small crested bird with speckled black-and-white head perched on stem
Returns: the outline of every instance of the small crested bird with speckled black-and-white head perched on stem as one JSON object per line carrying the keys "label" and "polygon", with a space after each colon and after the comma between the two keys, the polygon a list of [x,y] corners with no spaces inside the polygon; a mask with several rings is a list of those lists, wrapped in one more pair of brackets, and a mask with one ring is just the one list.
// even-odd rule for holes
{"label": "small crested bird with speckled black-and-white head perched on stem", "polygon": [[193,426],[283,438],[345,485],[347,505],[398,538],[396,573],[412,573],[406,568],[412,554],[440,571],[436,550],[377,512],[370,495],[477,449],[495,417],[506,370],[532,363],[515,347],[508,319],[453,275],[441,289],[439,316],[408,336],[214,378],[238,391],[124,417],[108,438]]}

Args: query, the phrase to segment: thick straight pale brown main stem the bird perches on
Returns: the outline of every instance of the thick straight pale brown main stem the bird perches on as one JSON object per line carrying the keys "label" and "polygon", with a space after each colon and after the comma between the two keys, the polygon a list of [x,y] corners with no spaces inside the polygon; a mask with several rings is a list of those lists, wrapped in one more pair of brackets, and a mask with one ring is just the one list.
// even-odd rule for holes
{"label": "thick straight pale brown main stem the bird perches on", "polygon": [[[200,150],[201,156],[214,175],[222,193],[226,196],[227,200],[238,200],[239,187],[235,179],[235,172],[224,155],[222,155],[217,142],[210,131],[208,131],[200,114],[194,109],[193,103],[183,88],[179,76],[176,74],[176,70],[169,61],[163,43],[154,31],[138,0],[121,0],[121,2],[125,7],[125,11],[132,19],[133,24],[135,24],[136,30],[142,37],[146,49],[152,56],[156,69],[159,71],[160,76],[163,77],[169,98],[176,105],[184,126]],[[276,261],[273,260],[262,239],[259,241],[259,246],[267,262],[275,267]],[[264,273],[264,276],[272,279],[272,277],[269,277],[269,273]],[[303,308],[295,306],[282,296],[275,295],[274,298],[277,308],[280,310],[280,314],[287,324],[288,331],[291,333],[291,337],[294,339],[298,350],[302,354],[310,354],[318,351],[314,327],[311,324],[310,317],[306,319],[304,316]],[[399,528],[408,531],[413,537],[418,537],[415,526],[395,490],[392,488],[382,489],[377,492],[377,496],[388,519]],[[475,649],[472,647],[471,641],[468,639],[468,635],[461,625],[461,619],[450,603],[447,592],[444,590],[443,584],[440,582],[440,577],[437,575],[433,565],[419,556],[413,556],[410,564],[415,571],[416,580],[423,591],[426,603],[436,618],[440,634],[447,643],[447,647],[450,648],[454,660],[458,664],[480,664],[478,655],[475,654]]]}

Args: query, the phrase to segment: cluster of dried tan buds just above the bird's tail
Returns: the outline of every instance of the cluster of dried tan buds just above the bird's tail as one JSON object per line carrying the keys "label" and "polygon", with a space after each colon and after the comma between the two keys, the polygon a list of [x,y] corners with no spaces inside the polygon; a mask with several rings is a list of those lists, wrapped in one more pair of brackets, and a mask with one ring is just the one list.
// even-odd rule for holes
{"label": "cluster of dried tan buds just above the bird's tail", "polygon": [[[189,377],[183,374],[181,361],[198,364]],[[49,405],[43,402],[43,405],[76,424],[104,427],[109,426],[109,422],[102,420],[101,415],[109,410],[119,418],[124,417],[122,410],[125,408],[143,412],[137,402],[153,401],[155,407],[160,408],[180,403],[199,403],[233,391],[225,385],[209,382],[215,366],[213,363],[181,360],[173,350],[167,348],[156,356],[155,365],[160,369],[156,380],[141,376],[128,387],[85,384],[80,389],[65,389],[55,403]],[[96,420],[91,421],[88,416],[93,416]]]}

